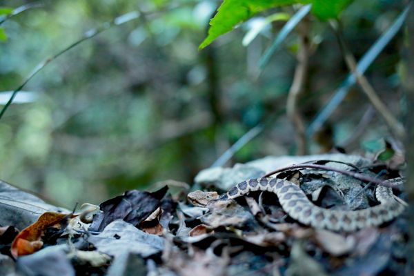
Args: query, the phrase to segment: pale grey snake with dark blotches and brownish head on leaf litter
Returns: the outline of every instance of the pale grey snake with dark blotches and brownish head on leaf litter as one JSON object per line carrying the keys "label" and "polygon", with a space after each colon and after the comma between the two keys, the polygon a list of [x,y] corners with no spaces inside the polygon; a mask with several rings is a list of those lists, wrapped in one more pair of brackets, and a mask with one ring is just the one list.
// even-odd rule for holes
{"label": "pale grey snake with dark blotches and brownish head on leaf litter", "polygon": [[380,226],[400,215],[406,203],[393,194],[388,186],[402,184],[398,177],[384,181],[388,185],[377,185],[375,198],[379,204],[360,210],[331,210],[319,207],[306,197],[304,191],[291,181],[272,177],[249,179],[230,188],[227,193],[218,195],[216,192],[197,190],[188,194],[188,200],[196,206],[207,206],[212,200],[230,200],[253,191],[275,193],[284,211],[296,221],[334,231],[351,232],[362,228]]}

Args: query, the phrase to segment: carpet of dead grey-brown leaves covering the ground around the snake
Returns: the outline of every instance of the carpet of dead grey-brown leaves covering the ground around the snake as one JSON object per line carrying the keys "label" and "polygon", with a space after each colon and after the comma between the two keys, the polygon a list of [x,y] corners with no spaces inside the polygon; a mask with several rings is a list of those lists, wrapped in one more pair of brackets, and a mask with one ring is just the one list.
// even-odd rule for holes
{"label": "carpet of dead grey-brown leaves covering the ground around the snake", "polygon": [[[316,164],[317,158],[311,160]],[[329,162],[326,156],[319,160]],[[364,173],[375,175],[366,160],[353,160],[336,161],[364,165]],[[349,164],[336,166],[349,169]],[[259,170],[261,165],[255,161],[253,166]],[[204,172],[208,190],[222,193],[217,175],[228,181],[232,169],[214,173],[217,185],[212,186],[215,182]],[[283,176],[324,208],[354,210],[372,204],[359,193],[362,182],[355,184],[347,176],[311,168]],[[10,193],[7,188],[0,189],[0,198],[2,191],[3,196]],[[200,207],[186,201],[186,193],[171,195],[164,186],[152,193],[130,190],[70,213],[12,191],[22,200],[19,206],[0,204],[0,275],[404,275],[407,269],[404,215],[384,226],[342,233],[299,224],[284,213],[277,196],[266,192]],[[355,195],[360,199],[350,204]],[[19,216],[35,204],[48,210],[36,220]]]}

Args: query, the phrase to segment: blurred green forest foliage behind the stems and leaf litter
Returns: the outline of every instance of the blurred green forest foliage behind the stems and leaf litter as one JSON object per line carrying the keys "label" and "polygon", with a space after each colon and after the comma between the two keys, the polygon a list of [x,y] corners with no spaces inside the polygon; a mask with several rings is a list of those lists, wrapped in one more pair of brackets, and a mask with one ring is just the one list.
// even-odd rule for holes
{"label": "blurred green forest foliage behind the stems and leaf litter", "polygon": [[[16,8],[30,1],[6,0]],[[99,203],[126,189],[156,181],[191,183],[239,137],[260,123],[264,130],[228,165],[266,155],[295,154],[286,97],[293,79],[297,34],[293,32],[263,71],[258,61],[286,21],[270,24],[248,45],[246,32],[266,11],[199,51],[213,0],[39,1],[2,27],[0,91],[17,88],[37,64],[131,11],[139,17],[72,48],[34,77],[0,120],[0,177],[63,206]],[[404,1],[357,0],[342,13],[344,36],[359,59],[405,8]],[[294,14],[292,7],[273,12]],[[301,100],[309,124],[348,70],[328,24],[313,20],[312,55]],[[404,116],[404,32],[386,46],[366,76],[396,117]],[[2,104],[7,101],[4,92]],[[383,121],[354,86],[322,131],[311,153],[346,145],[364,153],[388,137]],[[374,141],[374,143],[372,142]],[[364,146],[365,145],[365,146]]]}

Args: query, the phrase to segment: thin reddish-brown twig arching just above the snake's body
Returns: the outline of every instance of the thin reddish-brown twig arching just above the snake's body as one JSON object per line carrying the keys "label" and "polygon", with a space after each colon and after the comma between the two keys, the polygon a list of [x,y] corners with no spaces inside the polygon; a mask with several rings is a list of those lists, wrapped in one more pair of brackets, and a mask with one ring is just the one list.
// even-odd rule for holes
{"label": "thin reddish-brown twig arching just above the snake's body", "polygon": [[359,179],[359,180],[364,181],[364,182],[371,182],[373,184],[386,186],[386,187],[389,187],[389,188],[396,188],[395,185],[393,186],[392,184],[384,182],[380,179],[375,179],[373,177],[367,177],[366,175],[362,175],[362,173],[359,173],[359,172],[351,172],[349,170],[342,170],[340,168],[333,168],[333,167],[324,166],[324,165],[317,165],[317,164],[298,164],[298,165],[288,166],[288,167],[285,167],[285,168],[279,168],[278,170],[273,170],[273,172],[267,173],[263,177],[270,177],[270,175],[275,175],[278,172],[284,172],[285,170],[294,170],[294,169],[297,169],[297,168],[299,168],[299,169],[300,168],[315,168],[317,170],[331,170],[333,172],[342,173],[342,175],[348,175],[350,177],[354,177],[355,179]]}

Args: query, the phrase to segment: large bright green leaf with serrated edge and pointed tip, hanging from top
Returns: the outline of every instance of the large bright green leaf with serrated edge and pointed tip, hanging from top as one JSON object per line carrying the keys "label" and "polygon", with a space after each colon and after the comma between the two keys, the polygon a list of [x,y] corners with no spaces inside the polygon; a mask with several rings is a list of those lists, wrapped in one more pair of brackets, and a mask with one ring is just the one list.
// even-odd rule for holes
{"label": "large bright green leaf with serrated edge and pointed tip, hanging from top", "polygon": [[208,36],[201,42],[199,49],[205,48],[221,34],[230,32],[237,24],[253,17],[257,12],[268,8],[297,3],[295,0],[224,0],[217,14],[210,20]]}

